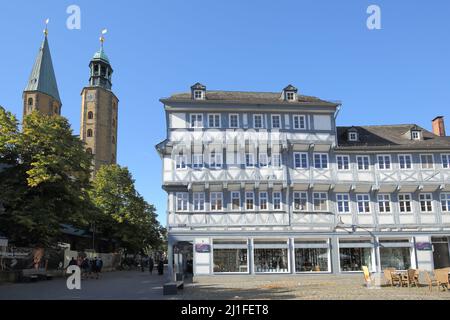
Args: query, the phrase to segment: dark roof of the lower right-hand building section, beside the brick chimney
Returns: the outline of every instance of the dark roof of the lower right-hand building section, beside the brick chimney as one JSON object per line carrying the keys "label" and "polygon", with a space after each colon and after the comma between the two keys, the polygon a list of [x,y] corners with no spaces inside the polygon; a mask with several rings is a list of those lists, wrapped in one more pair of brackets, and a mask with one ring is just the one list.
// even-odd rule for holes
{"label": "dark roof of the lower right-hand building section, beside the brick chimney", "polygon": [[[347,132],[355,128],[359,141],[348,141]],[[410,130],[421,130],[423,140],[411,140]],[[338,149],[450,149],[450,137],[438,137],[415,124],[337,127]]]}

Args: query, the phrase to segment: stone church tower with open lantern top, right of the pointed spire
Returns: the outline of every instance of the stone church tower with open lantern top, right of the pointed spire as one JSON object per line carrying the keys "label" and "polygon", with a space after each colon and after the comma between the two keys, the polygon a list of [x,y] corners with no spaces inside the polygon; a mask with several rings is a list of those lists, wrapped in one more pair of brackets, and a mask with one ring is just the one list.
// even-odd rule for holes
{"label": "stone church tower with open lantern top, right of the pointed spire", "polygon": [[119,100],[111,91],[113,69],[103,49],[94,54],[89,68],[89,86],[81,93],[81,140],[94,156],[94,175],[102,165],[117,161],[117,123]]}

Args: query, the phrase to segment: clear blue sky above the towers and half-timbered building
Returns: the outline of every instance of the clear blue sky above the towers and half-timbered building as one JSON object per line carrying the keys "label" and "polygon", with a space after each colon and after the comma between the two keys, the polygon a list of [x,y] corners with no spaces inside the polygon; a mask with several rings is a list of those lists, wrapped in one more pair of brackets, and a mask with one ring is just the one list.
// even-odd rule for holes
{"label": "clear blue sky above the towers and half-timbered building", "polygon": [[[81,8],[68,30],[66,9]],[[382,10],[368,30],[366,9]],[[89,60],[108,28],[105,50],[120,99],[118,161],[165,223],[161,161],[163,106],[200,81],[210,89],[281,91],[341,100],[339,125],[450,121],[450,2],[303,1],[1,1],[0,105],[22,116],[24,89],[51,19],[49,42],[63,102],[80,128],[80,92]],[[450,130],[450,122],[448,122]]]}

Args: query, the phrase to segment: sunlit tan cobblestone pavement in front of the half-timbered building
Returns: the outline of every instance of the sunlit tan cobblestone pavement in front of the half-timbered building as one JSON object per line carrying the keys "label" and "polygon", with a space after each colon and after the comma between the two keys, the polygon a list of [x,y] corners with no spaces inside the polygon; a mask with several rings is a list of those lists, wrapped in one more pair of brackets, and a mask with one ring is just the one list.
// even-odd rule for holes
{"label": "sunlit tan cobblestone pavement in front of the half-timbered building", "polygon": [[[196,277],[178,298],[193,300],[450,300],[450,291],[428,285],[416,287],[380,286],[368,289],[362,274],[298,276],[214,276]],[[182,296],[180,296],[182,295]]]}

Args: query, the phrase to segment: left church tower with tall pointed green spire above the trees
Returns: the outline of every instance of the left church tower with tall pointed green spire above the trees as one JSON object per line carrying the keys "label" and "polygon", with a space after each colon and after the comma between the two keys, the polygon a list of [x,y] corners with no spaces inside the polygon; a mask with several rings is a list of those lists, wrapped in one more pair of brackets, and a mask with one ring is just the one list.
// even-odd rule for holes
{"label": "left church tower with tall pointed green spire above the trees", "polygon": [[48,45],[48,29],[44,30],[44,41],[39,48],[28,84],[23,91],[23,116],[38,110],[46,115],[61,114],[61,99],[53,70]]}

